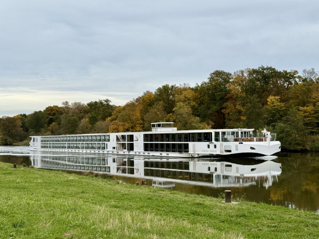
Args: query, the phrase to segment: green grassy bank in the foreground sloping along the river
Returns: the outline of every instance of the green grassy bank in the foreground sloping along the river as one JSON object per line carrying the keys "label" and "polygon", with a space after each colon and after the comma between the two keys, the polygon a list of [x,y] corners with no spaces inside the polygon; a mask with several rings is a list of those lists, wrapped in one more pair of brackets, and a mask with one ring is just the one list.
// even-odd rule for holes
{"label": "green grassy bank in the foreground sloping along the river", "polygon": [[0,162],[0,238],[319,238],[319,215]]}

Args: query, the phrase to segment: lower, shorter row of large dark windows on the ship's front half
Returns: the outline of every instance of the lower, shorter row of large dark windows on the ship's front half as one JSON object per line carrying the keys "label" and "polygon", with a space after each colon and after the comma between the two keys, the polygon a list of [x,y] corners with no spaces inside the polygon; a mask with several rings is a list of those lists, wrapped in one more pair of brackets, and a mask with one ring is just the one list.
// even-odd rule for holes
{"label": "lower, shorter row of large dark windows on the ship's front half", "polygon": [[144,143],[144,151],[188,153],[188,144]]}

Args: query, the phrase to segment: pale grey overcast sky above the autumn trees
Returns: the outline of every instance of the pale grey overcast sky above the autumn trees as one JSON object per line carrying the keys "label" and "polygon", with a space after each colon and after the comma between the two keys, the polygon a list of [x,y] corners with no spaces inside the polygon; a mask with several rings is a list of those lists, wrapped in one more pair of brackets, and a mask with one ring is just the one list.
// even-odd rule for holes
{"label": "pale grey overcast sky above the autumn trees", "polygon": [[319,70],[318,1],[0,1],[0,116],[260,65]]}

